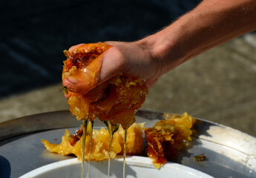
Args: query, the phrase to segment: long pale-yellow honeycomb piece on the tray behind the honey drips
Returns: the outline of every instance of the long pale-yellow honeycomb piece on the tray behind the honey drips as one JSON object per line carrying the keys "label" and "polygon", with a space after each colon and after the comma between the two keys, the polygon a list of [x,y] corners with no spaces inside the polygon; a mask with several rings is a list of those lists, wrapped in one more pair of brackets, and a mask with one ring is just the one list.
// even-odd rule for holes
{"label": "long pale-yellow honeycomb piece on the tray behind the honey drips", "polygon": [[[126,142],[126,154],[127,155],[140,155],[142,154],[144,145],[142,132],[144,124],[134,123],[128,128],[127,142]],[[124,130],[119,127],[118,131],[114,133],[113,141],[111,145],[111,159],[114,159],[117,154],[123,154],[124,145]],[[77,139],[74,139],[77,138]],[[108,130],[101,128],[100,130],[93,130],[93,139],[91,145],[91,160],[105,160],[108,159],[109,151],[109,138]],[[78,159],[82,159],[82,131],[81,128],[74,135],[70,135],[68,130],[65,130],[65,135],[62,136],[62,142],[58,145],[56,143],[50,143],[45,139],[42,139],[42,143],[45,145],[48,151],[68,155],[74,154]],[[91,128],[88,127],[86,133],[85,142],[85,160],[88,160],[89,148],[91,139]]]}

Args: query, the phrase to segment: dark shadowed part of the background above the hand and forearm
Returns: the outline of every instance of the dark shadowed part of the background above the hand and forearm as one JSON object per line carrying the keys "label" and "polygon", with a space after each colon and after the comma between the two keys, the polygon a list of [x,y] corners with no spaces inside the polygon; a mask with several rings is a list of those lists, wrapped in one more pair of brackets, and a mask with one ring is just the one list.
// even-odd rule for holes
{"label": "dark shadowed part of the background above the hand and forearm", "polygon": [[0,97],[61,82],[62,51],[79,43],[133,41],[200,1],[0,2]]}

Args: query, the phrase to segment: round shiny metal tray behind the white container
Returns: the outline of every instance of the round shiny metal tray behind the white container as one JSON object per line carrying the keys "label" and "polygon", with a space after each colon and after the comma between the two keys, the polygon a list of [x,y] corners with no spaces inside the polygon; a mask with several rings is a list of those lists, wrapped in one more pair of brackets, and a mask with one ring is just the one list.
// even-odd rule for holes
{"label": "round shiny metal tray behind the white container", "polygon": [[[164,113],[138,111],[137,122],[152,127]],[[69,111],[26,116],[0,123],[0,177],[20,177],[29,171],[73,156],[61,156],[45,150],[41,139],[61,141],[68,128],[73,133],[81,122],[71,118]],[[197,135],[180,153],[176,163],[186,165],[212,177],[256,177],[256,139],[232,128],[197,119]],[[95,127],[102,127],[96,121]],[[195,162],[194,156],[204,154],[206,161]]]}

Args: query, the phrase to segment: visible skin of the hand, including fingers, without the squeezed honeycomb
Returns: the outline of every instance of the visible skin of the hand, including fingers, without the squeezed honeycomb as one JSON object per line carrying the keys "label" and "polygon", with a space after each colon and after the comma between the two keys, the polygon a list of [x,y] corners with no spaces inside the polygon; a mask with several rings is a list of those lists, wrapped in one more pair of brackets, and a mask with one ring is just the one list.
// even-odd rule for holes
{"label": "visible skin of the hand, including fingers, without the squeezed honeycomb", "polygon": [[[88,93],[93,91],[103,82],[114,76],[124,75],[132,76],[145,80],[148,86],[154,85],[160,77],[160,62],[154,57],[150,45],[145,42],[105,42],[112,47],[102,54],[98,60],[99,79],[95,80],[95,84],[89,85],[89,75],[73,78],[68,76],[63,80],[63,86],[67,86],[68,90],[80,91]],[[76,50],[82,44],[70,47],[69,52]],[[95,88],[96,87],[96,88]]]}

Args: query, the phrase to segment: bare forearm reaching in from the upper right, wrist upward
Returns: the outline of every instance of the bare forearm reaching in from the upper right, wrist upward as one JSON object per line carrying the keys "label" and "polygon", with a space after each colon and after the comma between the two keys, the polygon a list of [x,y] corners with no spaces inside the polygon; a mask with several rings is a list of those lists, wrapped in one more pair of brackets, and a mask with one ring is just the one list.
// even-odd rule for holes
{"label": "bare forearm reaching in from the upper right, wrist upward", "polygon": [[163,64],[163,74],[218,44],[252,30],[256,30],[255,0],[205,0],[145,41]]}

